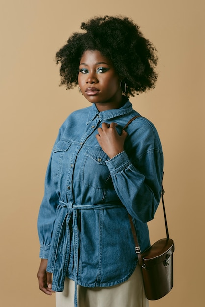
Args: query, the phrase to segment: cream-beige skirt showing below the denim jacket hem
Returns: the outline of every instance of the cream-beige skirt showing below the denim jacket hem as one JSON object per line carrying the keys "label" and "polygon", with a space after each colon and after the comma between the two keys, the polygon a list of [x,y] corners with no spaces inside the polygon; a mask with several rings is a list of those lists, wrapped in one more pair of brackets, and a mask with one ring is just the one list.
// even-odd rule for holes
{"label": "cream-beige skirt showing below the denim jacket hem", "polygon": [[[130,278],[116,286],[86,288],[77,285],[78,307],[149,307],[142,272],[137,265]],[[66,278],[63,292],[56,292],[56,307],[74,306],[74,281]]]}

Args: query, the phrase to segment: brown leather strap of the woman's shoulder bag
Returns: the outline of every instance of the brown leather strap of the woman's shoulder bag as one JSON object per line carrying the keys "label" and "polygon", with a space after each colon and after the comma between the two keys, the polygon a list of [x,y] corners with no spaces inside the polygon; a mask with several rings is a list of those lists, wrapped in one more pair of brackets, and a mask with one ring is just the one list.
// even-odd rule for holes
{"label": "brown leather strap of the woman's shoulder bag", "polygon": [[[128,127],[128,125],[136,118],[141,117],[141,115],[137,115],[134,116],[133,118],[131,118],[128,123],[124,126],[123,130]],[[167,235],[167,239],[169,239],[169,231],[168,231],[168,226],[167,226],[167,218],[166,218],[166,212],[165,212],[165,205],[164,205],[164,189],[163,189],[163,177],[164,177],[164,172],[163,172],[163,176],[162,176],[162,182],[161,182],[161,198],[162,198],[162,205],[163,205],[163,212],[164,212],[164,222],[165,222],[165,228],[166,228],[166,235]],[[142,261],[142,255],[141,255],[141,249],[138,243],[138,239],[137,239],[137,233],[135,230],[135,226],[134,226],[134,222],[133,222],[133,218],[132,216],[128,213],[128,217],[129,217],[129,222],[131,225],[131,230],[132,230],[132,234],[133,234],[133,238],[134,238],[134,242],[135,242],[135,252],[138,256],[138,262],[139,265],[142,266],[143,265],[143,261]]]}

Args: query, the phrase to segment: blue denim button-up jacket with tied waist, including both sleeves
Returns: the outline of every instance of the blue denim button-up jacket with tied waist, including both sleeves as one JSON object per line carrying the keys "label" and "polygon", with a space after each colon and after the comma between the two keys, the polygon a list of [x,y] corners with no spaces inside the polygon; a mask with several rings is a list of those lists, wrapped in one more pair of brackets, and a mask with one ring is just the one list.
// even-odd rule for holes
{"label": "blue denim button-up jacket with tied waist, including both sleeves", "polygon": [[65,276],[85,287],[113,286],[131,276],[137,255],[128,212],[141,250],[150,245],[146,222],[159,204],[163,171],[154,125],[135,119],[126,128],[124,151],[112,159],[96,139],[103,122],[116,122],[120,134],[136,115],[129,100],[103,112],[93,104],[73,112],[59,130],[38,217],[40,257],[48,259],[55,291],[63,291]]}

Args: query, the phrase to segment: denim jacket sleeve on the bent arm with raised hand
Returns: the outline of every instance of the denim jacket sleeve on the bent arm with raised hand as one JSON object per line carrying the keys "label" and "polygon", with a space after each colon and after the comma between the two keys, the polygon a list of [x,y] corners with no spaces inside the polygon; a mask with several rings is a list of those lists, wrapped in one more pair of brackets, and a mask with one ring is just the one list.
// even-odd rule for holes
{"label": "denim jacket sleeve on the bent arm with raised hand", "polygon": [[[161,198],[163,153],[151,124],[138,128],[123,151],[106,161],[115,191],[129,214],[146,223],[154,218]],[[128,147],[127,147],[128,148]]]}

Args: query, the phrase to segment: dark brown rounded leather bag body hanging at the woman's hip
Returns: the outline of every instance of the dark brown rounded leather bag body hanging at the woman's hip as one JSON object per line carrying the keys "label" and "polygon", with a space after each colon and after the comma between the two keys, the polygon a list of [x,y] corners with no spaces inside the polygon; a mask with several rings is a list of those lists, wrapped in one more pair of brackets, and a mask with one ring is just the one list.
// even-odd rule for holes
{"label": "dark brown rounded leather bag body hanging at the woman's hip", "polygon": [[142,255],[142,274],[145,294],[149,300],[158,300],[173,287],[174,241],[161,239]]}

